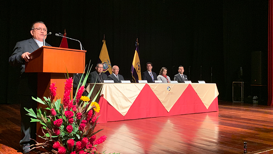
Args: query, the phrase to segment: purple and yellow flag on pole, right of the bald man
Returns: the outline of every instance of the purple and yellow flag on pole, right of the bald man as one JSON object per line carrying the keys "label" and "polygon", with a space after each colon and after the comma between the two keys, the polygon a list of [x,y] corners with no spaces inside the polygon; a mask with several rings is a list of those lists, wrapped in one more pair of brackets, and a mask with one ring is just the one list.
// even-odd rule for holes
{"label": "purple and yellow flag on pole, right of the bald man", "polygon": [[138,81],[141,80],[141,71],[140,71],[139,47],[138,47],[137,39],[136,39],[136,51],[134,55],[133,64],[131,67],[131,73],[133,77],[133,82],[138,83]]}

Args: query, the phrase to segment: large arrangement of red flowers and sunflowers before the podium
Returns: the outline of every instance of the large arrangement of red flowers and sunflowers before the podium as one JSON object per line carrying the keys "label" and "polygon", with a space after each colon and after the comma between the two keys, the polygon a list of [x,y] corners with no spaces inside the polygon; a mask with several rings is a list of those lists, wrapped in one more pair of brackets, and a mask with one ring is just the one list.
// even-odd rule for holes
{"label": "large arrangement of red flowers and sunflowers before the podium", "polygon": [[[85,85],[86,79],[82,85]],[[76,95],[71,100],[72,86],[73,79],[66,79],[62,103],[60,99],[54,100],[57,90],[55,83],[50,84],[50,98],[44,97],[43,101],[40,98],[32,97],[33,100],[46,105],[45,109],[37,109],[37,115],[32,109],[25,108],[28,115],[34,117],[31,118],[31,122],[41,123],[44,133],[43,137],[38,137],[43,138],[45,142],[38,143],[35,141],[36,146],[32,149],[42,147],[47,151],[44,152],[45,154],[99,154],[96,146],[104,142],[106,136],[104,135],[96,140],[95,134],[102,129],[94,131],[99,118],[96,113],[100,111],[99,104],[94,102],[98,94],[91,101],[89,97],[93,89],[87,97],[82,96],[85,90],[84,86],[78,85]]]}

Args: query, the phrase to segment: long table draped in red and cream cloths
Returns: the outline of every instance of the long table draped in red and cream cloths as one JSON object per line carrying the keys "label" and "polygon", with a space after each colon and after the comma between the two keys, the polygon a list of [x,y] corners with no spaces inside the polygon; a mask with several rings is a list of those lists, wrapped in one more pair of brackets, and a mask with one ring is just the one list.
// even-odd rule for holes
{"label": "long table draped in red and cream cloths", "polygon": [[100,123],[218,111],[216,84],[89,84],[99,90]]}

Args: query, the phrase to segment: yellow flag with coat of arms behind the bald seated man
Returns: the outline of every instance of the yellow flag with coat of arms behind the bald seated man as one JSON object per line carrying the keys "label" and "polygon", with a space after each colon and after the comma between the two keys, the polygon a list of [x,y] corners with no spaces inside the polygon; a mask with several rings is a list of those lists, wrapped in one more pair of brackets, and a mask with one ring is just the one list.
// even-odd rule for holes
{"label": "yellow flag with coat of arms behind the bald seated man", "polygon": [[105,73],[107,76],[109,76],[110,74],[112,74],[112,66],[111,66],[110,58],[109,58],[106,43],[105,43],[106,41],[102,40],[102,42],[103,42],[102,50],[100,51],[100,54],[99,54],[98,63],[99,62],[102,63],[103,65],[102,72]]}

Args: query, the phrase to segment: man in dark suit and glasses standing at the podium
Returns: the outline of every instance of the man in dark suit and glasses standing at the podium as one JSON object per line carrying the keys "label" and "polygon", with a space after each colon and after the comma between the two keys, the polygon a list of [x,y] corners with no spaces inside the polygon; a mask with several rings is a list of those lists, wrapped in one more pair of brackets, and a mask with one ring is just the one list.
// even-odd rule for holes
{"label": "man in dark suit and glasses standing at the podium", "polygon": [[[37,21],[32,24],[30,34],[31,39],[16,43],[13,54],[9,57],[9,63],[13,66],[21,66],[21,76],[18,86],[18,101],[20,102],[21,114],[21,140],[20,145],[23,153],[28,153],[29,145],[36,139],[36,123],[30,122],[30,116],[26,115],[24,108],[32,108],[36,112],[37,102],[31,97],[37,97],[37,73],[25,73],[25,62],[29,60],[29,54],[43,46],[43,38],[46,39],[47,28],[44,22]],[[46,46],[51,46],[46,43]]]}

